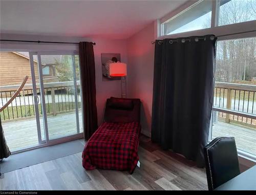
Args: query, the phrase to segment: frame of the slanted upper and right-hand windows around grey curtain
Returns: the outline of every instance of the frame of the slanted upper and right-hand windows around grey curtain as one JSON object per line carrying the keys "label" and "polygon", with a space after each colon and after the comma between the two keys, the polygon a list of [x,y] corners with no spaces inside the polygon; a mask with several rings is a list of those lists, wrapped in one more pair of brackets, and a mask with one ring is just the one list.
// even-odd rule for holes
{"label": "frame of the slanted upper and right-hand windows around grey curtain", "polygon": [[[202,1],[202,0],[199,0],[199,1]],[[200,30],[195,30],[195,31],[186,31],[186,32],[170,34],[170,35],[163,35],[163,23],[164,22],[166,22],[167,20],[170,20],[174,16],[186,11],[187,9],[189,9],[191,6],[198,3],[199,1],[197,1],[197,2],[188,1],[187,3],[183,4],[178,9],[176,9],[173,12],[170,12],[170,13],[166,14],[164,17],[158,19],[155,23],[156,24],[155,27],[157,27],[157,30],[156,30],[157,34],[155,34],[155,38],[165,39],[165,38],[178,38],[178,37],[202,36],[202,35],[206,35],[206,34],[214,34],[215,36],[218,36],[217,41],[220,41],[220,40],[256,37],[256,28],[255,28],[256,20],[245,21],[243,23],[218,26],[220,0],[211,0],[212,10],[211,10],[211,27],[210,28],[200,29]],[[203,0],[203,1],[205,1],[205,0]],[[215,67],[214,67],[214,69],[215,69]],[[214,77],[214,82],[215,82],[215,77]],[[208,143],[211,141],[209,139],[209,138],[211,138],[211,131],[212,131],[211,124],[212,123],[210,121]],[[238,148],[238,155],[241,158],[256,162],[256,156],[254,156],[250,153],[247,153],[246,151],[240,150],[239,148]]]}

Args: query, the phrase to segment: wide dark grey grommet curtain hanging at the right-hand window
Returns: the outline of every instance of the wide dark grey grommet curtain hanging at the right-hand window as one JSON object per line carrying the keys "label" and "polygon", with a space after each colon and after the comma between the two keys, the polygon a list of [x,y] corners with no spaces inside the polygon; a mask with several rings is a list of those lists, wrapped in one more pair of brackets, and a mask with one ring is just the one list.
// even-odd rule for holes
{"label": "wide dark grey grommet curtain hanging at the right-hand window", "polygon": [[213,35],[156,40],[152,141],[204,166],[214,88]]}

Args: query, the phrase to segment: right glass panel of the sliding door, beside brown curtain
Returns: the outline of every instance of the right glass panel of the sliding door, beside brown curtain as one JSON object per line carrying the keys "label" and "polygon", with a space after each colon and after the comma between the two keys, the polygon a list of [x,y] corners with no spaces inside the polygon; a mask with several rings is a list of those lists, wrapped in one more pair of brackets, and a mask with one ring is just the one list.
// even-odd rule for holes
{"label": "right glass panel of the sliding door, beside brown curtain", "polygon": [[79,133],[75,56],[39,55],[49,140],[75,135]]}

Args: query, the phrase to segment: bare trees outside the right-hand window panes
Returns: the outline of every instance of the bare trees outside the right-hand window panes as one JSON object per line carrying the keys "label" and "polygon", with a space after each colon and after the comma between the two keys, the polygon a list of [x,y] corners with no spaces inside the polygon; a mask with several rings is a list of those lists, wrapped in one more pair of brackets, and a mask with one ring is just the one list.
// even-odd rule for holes
{"label": "bare trees outside the right-hand window panes", "polygon": [[[220,7],[219,26],[256,19],[256,0],[230,1]],[[216,81],[241,82],[256,77],[256,38],[218,41]]]}

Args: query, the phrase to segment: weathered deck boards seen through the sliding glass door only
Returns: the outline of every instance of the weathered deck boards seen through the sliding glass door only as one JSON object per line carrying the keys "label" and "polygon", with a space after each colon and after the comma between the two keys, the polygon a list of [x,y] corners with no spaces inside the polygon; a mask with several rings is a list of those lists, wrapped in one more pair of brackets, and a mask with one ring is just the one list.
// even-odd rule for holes
{"label": "weathered deck boards seen through the sliding glass door only", "polygon": [[[81,112],[79,127],[82,132]],[[77,133],[75,112],[47,117],[49,139],[56,139]],[[3,124],[5,138],[11,151],[38,145],[35,118],[27,120],[5,121]],[[41,138],[45,139],[44,124],[40,117]]]}

